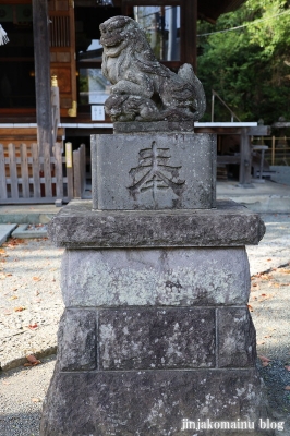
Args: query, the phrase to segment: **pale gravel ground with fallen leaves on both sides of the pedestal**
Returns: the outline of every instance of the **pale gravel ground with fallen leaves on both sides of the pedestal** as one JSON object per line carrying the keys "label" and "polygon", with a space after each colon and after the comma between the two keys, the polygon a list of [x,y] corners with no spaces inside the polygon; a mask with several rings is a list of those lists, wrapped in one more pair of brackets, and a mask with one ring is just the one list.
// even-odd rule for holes
{"label": "pale gravel ground with fallen leaves on both sides of the pedestal", "polygon": [[[290,372],[286,368],[290,366],[290,217],[263,218],[267,225],[264,240],[259,246],[247,247],[254,275],[250,310],[257,330],[258,354],[270,359],[270,362],[258,361],[269,403],[277,420],[286,421],[285,431],[277,435],[290,436],[290,391],[285,389],[290,385]],[[63,250],[53,247],[48,240],[11,241],[0,249],[3,367],[23,363],[27,352],[34,352],[38,359],[47,350],[51,352],[63,310],[58,276]],[[278,268],[280,265],[283,267]],[[25,308],[15,312],[21,306]],[[51,355],[41,359],[37,366],[2,372],[1,436],[39,435],[41,403],[55,362],[56,356]]]}

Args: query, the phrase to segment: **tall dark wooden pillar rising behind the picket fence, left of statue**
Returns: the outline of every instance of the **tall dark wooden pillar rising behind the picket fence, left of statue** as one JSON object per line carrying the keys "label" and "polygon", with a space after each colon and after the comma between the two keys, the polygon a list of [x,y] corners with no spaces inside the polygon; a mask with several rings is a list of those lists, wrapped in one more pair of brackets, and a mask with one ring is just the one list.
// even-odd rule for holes
{"label": "tall dark wooden pillar rising behind the picket fence, left of statue", "polygon": [[52,150],[52,117],[50,102],[49,17],[47,0],[33,0],[36,121],[39,156],[45,147]]}

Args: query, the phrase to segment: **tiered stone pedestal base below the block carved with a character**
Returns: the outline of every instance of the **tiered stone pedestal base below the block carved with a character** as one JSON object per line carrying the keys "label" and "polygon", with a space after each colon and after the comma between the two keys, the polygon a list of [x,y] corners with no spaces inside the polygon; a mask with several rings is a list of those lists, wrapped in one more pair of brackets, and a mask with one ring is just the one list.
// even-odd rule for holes
{"label": "tiered stone pedestal base below the block carved with a character", "polygon": [[246,306],[244,245],[264,231],[258,215],[231,202],[64,207],[49,226],[67,247],[67,308],[40,434],[274,435],[259,429],[268,414]]}

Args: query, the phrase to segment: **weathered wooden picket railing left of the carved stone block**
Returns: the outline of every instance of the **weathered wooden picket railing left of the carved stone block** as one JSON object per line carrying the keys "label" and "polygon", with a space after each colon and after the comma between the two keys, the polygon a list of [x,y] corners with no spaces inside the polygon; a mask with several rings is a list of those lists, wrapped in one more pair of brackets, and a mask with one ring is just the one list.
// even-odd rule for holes
{"label": "weathered wooden picket railing left of the carved stone block", "polygon": [[65,168],[62,143],[40,157],[36,143],[0,144],[0,204],[55,203],[73,198],[73,168]]}

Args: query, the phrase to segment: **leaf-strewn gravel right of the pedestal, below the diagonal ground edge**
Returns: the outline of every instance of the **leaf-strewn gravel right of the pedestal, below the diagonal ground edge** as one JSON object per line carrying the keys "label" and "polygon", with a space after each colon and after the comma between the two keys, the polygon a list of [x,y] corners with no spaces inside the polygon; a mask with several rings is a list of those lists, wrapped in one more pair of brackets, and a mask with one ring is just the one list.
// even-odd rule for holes
{"label": "leaf-strewn gravel right of the pedestal, below the diagonal ground edge", "polygon": [[[252,276],[249,308],[256,327],[257,362],[271,414],[290,435],[290,263]],[[265,359],[266,358],[266,359]]]}

